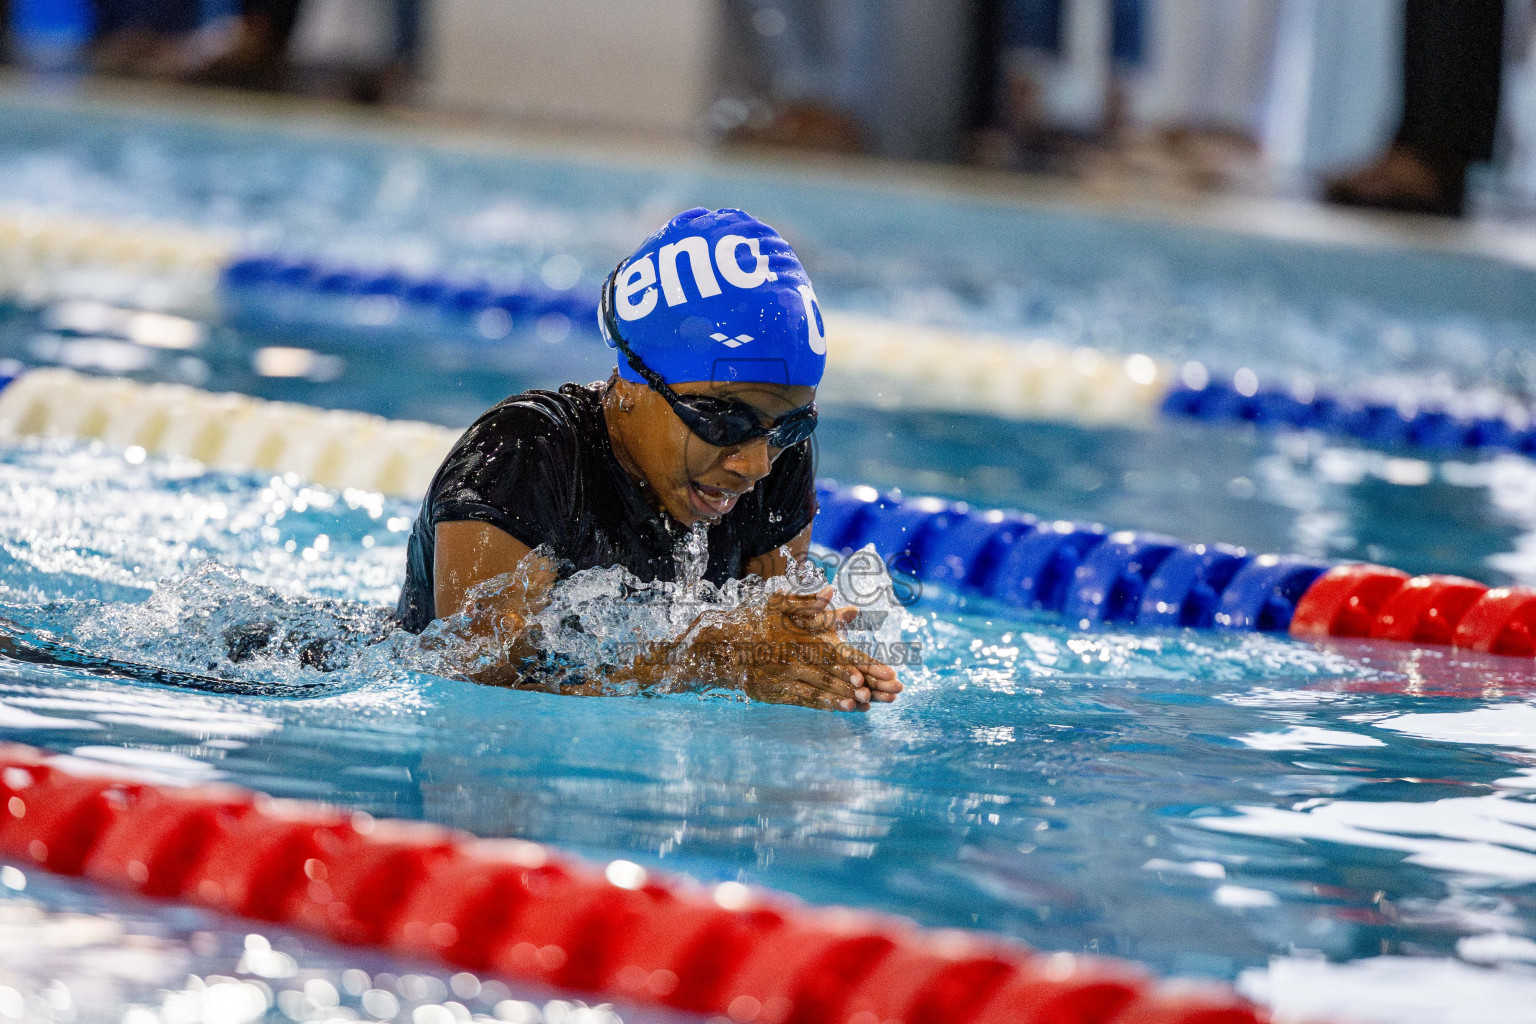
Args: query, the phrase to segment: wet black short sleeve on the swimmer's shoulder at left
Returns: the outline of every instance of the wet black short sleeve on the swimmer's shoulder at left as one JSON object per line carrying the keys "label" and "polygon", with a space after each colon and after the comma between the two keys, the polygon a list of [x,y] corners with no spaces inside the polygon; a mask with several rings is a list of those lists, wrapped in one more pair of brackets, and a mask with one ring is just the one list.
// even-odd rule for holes
{"label": "wet black short sleeve on the swimmer's shoulder at left", "polygon": [[499,405],[464,433],[438,470],[432,525],[484,522],[530,548],[565,550],[576,461],[576,430],[554,410]]}

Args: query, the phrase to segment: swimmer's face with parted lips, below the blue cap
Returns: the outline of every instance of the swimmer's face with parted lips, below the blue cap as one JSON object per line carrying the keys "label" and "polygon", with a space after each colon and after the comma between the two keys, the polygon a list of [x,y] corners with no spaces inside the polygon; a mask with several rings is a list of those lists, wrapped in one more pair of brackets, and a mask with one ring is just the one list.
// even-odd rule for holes
{"label": "swimmer's face with parted lips, below the blue cap", "polygon": [[[766,438],[728,448],[705,444],[651,388],[630,381],[619,381],[617,387],[631,405],[622,416],[624,447],[660,505],[687,527],[719,520],[768,476],[779,457],[780,448]],[[763,425],[816,399],[814,387],[783,384],[694,381],[674,384],[673,390],[745,402],[757,410]]]}

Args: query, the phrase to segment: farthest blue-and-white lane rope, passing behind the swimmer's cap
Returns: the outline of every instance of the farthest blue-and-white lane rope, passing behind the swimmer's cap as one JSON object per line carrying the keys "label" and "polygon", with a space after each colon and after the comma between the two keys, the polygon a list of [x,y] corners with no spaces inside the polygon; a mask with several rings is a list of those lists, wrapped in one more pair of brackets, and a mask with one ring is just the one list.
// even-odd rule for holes
{"label": "farthest blue-and-white lane rope, passing behind the swimmer's cap", "polygon": [[[344,315],[387,302],[439,318],[470,338],[559,321],[596,325],[581,289],[492,284],[447,273],[364,267],[303,253],[244,253],[232,236],[174,224],[127,224],[45,210],[0,210],[0,301],[129,301],[146,284],[167,309],[214,315],[310,310]],[[372,309],[372,307],[370,307]],[[329,312],[327,312],[329,310]],[[1318,430],[1385,448],[1516,451],[1536,456],[1536,416],[1522,402],[1453,395],[1330,390],[1261,379],[1249,368],[1174,365],[1144,353],[1107,353],[834,312],[839,344],[825,391],[906,408],[1009,419],[1147,424],[1174,418],[1263,428]],[[487,333],[488,332],[488,333]]]}

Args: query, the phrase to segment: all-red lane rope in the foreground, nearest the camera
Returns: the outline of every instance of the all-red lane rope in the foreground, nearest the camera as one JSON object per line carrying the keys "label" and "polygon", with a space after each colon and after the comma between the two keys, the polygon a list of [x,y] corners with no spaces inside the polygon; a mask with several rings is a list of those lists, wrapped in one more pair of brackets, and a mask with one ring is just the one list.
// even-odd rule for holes
{"label": "all-red lane rope in the foreground, nearest the camera", "polygon": [[83,777],[0,745],[0,855],[341,943],[733,1024],[1263,1024],[1132,964],[607,869],[229,786]]}

